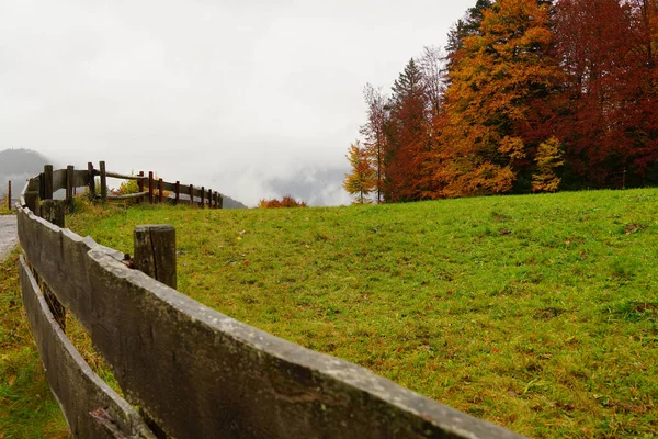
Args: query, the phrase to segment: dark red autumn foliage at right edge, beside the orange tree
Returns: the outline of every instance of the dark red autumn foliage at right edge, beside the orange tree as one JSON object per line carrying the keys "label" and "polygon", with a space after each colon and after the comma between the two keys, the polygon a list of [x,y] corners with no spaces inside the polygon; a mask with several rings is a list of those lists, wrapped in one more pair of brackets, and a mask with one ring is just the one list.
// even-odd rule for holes
{"label": "dark red autumn foliage at right edge, beside the orange tree", "polygon": [[655,0],[559,0],[559,136],[571,185],[643,184],[658,159]]}

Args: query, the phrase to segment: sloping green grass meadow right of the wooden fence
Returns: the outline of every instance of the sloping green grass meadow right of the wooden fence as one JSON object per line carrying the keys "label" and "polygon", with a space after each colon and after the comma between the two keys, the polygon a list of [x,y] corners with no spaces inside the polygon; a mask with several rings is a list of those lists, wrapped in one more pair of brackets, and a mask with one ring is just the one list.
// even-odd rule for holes
{"label": "sloping green grass meadow right of the wooden fence", "polygon": [[81,205],[132,254],[177,227],[179,290],[532,437],[658,431],[658,190],[363,207]]}

